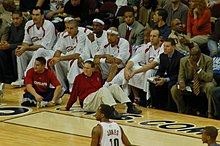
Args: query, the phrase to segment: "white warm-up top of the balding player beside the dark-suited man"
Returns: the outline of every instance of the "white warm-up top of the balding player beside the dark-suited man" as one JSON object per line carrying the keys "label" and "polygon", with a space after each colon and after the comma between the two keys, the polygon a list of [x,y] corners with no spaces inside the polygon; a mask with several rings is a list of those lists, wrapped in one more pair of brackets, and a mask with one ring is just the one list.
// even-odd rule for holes
{"label": "white warm-up top of the balding player beside the dark-suited man", "polygon": [[138,50],[137,54],[131,58],[130,60],[134,62],[134,64],[139,63],[140,65],[148,64],[154,59],[164,52],[164,46],[161,45],[156,50],[151,43],[143,44]]}

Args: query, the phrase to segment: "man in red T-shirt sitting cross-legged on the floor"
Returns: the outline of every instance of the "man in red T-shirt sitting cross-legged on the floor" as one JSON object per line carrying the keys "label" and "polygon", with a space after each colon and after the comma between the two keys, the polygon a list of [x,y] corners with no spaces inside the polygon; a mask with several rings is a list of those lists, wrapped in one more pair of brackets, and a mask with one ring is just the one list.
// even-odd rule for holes
{"label": "man in red T-shirt sitting cross-legged on the floor", "polygon": [[[62,88],[55,74],[45,68],[46,60],[43,57],[36,58],[34,67],[29,69],[25,78],[25,94],[22,106],[54,106],[61,104]],[[52,84],[55,88],[50,88]]]}

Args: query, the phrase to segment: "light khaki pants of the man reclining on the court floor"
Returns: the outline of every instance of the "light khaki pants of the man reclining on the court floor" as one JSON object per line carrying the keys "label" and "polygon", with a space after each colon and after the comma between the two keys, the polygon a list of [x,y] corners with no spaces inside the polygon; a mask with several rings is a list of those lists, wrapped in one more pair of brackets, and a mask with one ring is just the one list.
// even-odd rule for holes
{"label": "light khaki pants of the man reclining on the court floor", "polygon": [[98,91],[88,95],[83,102],[85,111],[95,112],[101,104],[116,105],[115,99],[120,103],[131,102],[119,85],[102,87]]}

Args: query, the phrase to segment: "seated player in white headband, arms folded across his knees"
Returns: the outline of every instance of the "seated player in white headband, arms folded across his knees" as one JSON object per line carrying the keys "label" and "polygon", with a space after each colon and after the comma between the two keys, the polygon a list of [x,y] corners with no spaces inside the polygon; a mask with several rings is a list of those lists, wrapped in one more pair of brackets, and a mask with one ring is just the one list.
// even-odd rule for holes
{"label": "seated player in white headband, arms folded across his knees", "polygon": [[108,42],[101,46],[96,53],[94,63],[102,70],[106,85],[110,82],[119,69],[123,68],[130,57],[130,45],[127,40],[118,36],[118,30],[110,27],[107,30]]}

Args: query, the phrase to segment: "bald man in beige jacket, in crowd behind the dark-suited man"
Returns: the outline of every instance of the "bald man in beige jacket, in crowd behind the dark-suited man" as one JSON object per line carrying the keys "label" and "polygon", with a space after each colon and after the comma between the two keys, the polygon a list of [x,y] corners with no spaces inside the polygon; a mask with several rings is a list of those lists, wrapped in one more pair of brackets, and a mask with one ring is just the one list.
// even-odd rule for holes
{"label": "bald man in beige jacket, in crowd behind the dark-suited man", "polygon": [[176,18],[171,22],[171,33],[168,38],[175,40],[176,48],[180,53],[189,54],[189,47],[187,44],[190,43],[187,35],[184,34],[184,28],[182,22]]}

